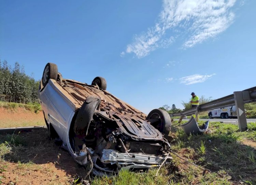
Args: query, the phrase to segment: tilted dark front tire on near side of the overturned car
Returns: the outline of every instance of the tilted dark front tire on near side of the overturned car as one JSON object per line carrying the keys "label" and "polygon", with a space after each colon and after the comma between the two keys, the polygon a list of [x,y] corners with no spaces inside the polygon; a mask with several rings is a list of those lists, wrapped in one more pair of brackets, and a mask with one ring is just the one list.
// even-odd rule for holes
{"label": "tilted dark front tire on near side of the overturned car", "polygon": [[75,134],[86,134],[96,109],[100,105],[100,97],[89,95],[81,106],[74,122]]}

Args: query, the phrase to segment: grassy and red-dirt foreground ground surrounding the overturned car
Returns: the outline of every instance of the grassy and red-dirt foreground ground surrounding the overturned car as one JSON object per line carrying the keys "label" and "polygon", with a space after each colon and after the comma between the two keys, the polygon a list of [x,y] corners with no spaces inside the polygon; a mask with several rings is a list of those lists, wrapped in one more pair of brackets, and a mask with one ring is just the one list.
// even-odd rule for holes
{"label": "grassy and red-dirt foreground ground surrounding the overturned car", "polygon": [[[182,122],[184,123],[184,122]],[[200,121],[199,124],[203,122]],[[173,152],[209,169],[185,162],[174,154],[172,164],[146,172],[123,170],[114,177],[88,177],[93,185],[256,184],[256,124],[240,132],[238,126],[213,122],[212,133],[186,136],[177,121],[170,136]],[[48,139],[47,130],[0,136],[0,176],[3,184],[83,184],[84,169],[70,154]],[[10,178],[9,178],[10,177]]]}

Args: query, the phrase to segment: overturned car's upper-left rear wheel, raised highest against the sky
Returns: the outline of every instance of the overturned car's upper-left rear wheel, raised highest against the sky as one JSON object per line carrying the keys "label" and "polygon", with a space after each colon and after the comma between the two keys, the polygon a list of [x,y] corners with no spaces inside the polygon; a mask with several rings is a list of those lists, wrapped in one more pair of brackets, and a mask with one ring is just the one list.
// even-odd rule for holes
{"label": "overturned car's upper-left rear wheel, raised highest against the sky", "polygon": [[58,77],[58,67],[55,63],[47,63],[42,77],[43,86],[45,86],[49,79],[57,80]]}

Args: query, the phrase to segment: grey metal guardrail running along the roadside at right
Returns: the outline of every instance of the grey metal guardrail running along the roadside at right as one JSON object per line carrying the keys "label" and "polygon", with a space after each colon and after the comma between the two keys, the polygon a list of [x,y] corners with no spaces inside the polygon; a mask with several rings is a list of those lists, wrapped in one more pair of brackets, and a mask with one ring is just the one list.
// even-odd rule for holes
{"label": "grey metal guardrail running along the roadside at right", "polygon": [[245,131],[247,129],[247,122],[246,122],[244,104],[250,103],[250,102],[256,102],[256,87],[245,89],[243,91],[235,91],[232,95],[228,95],[223,98],[219,98],[219,99],[201,104],[197,107],[185,110],[183,112],[170,114],[170,116],[171,117],[181,116],[180,118],[180,121],[181,121],[182,117],[185,115],[192,115],[192,114],[197,115],[199,112],[202,112],[202,111],[209,111],[213,109],[223,108],[226,106],[236,105],[239,129],[240,131]]}

